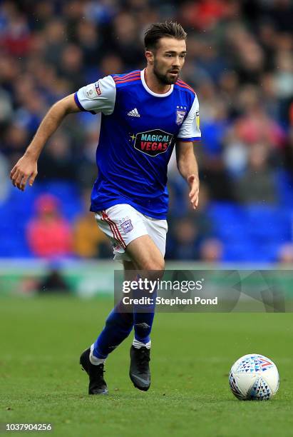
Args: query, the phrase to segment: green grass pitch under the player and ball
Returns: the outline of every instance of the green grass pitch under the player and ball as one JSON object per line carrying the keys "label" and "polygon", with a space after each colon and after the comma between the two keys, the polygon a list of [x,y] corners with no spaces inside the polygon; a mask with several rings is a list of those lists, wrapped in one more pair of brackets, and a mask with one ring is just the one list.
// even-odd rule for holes
{"label": "green grass pitch under the player and ball", "polygon": [[[138,391],[128,377],[129,337],[106,362],[109,395],[88,396],[78,359],[111,305],[108,298],[0,299],[2,428],[52,423],[54,436],[293,436],[293,313],[158,313],[150,390]],[[228,386],[232,363],[254,352],[279,368],[279,392],[268,402],[237,401]]]}

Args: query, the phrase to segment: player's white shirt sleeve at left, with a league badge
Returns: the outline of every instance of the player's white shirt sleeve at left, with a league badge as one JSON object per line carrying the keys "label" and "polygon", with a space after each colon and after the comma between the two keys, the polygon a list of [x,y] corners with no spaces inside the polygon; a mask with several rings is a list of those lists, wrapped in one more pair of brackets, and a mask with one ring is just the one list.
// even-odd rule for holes
{"label": "player's white shirt sleeve at left, with a league badge", "polygon": [[92,114],[103,112],[110,115],[114,111],[116,86],[112,76],[103,77],[93,84],[83,86],[74,94],[74,100],[81,111]]}

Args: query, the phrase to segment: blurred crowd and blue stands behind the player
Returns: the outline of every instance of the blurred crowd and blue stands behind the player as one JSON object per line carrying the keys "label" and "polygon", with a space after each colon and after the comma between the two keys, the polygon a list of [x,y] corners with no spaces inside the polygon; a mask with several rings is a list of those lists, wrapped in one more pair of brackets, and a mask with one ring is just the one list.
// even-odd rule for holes
{"label": "blurred crowd and blue stands behind the player", "polygon": [[166,260],[292,263],[291,0],[8,0],[0,1],[2,291],[113,288],[110,244],[88,211],[97,116],[66,118],[34,187],[19,192],[9,171],[54,102],[107,74],[143,69],[145,29],[170,19],[188,34],[181,78],[197,92],[202,141],[197,211],[170,161]]}

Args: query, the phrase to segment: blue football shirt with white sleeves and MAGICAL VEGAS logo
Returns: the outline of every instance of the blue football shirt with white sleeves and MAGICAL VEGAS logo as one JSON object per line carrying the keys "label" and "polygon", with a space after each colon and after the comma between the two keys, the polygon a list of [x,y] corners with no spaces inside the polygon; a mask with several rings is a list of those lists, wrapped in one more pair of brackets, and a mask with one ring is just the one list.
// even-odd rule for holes
{"label": "blue football shirt with white sleeves and MAGICAL VEGAS logo", "polygon": [[176,140],[200,139],[195,91],[178,79],[165,94],[145,82],[145,71],[113,74],[74,95],[83,111],[101,112],[91,211],[130,204],[146,216],[168,211],[167,169]]}

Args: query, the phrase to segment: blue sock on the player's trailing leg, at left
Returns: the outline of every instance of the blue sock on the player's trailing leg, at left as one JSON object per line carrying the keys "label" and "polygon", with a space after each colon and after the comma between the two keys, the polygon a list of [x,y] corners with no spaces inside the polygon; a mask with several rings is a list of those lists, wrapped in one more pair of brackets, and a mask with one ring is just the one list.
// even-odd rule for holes
{"label": "blue sock on the player's trailing leg, at left", "polygon": [[108,315],[106,325],[93,346],[93,356],[107,358],[133,328],[133,313],[122,313],[119,304]]}

